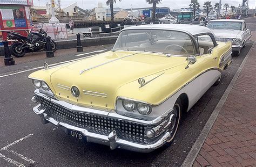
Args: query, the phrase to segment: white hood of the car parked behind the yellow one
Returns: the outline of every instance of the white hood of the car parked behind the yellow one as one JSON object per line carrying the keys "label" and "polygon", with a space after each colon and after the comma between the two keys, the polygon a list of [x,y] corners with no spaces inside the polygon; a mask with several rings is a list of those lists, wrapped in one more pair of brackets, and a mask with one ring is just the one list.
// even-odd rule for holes
{"label": "white hood of the car parked behind the yellow one", "polygon": [[242,33],[242,31],[239,30],[211,30],[215,34],[216,38],[238,38],[238,36]]}

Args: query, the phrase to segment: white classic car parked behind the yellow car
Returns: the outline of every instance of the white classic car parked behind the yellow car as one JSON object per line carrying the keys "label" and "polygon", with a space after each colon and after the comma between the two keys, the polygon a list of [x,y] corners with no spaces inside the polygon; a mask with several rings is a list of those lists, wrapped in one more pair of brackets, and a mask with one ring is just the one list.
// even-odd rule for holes
{"label": "white classic car parked behind the yellow car", "polygon": [[246,28],[245,20],[211,20],[207,24],[221,42],[231,41],[233,55],[238,56],[245,47],[246,41],[251,38],[251,30]]}

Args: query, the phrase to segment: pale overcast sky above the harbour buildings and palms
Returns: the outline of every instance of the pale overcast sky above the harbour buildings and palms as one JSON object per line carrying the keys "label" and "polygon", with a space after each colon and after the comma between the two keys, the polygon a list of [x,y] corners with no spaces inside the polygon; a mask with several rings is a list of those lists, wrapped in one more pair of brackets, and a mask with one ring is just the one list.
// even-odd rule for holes
{"label": "pale overcast sky above the harbour buildings and palms", "polygon": [[[58,0],[55,0],[57,3]],[[117,3],[114,4],[114,8],[119,7],[123,9],[127,8],[144,8],[144,7],[149,7],[151,5],[147,4],[145,0],[122,0],[119,2],[119,0],[116,0]],[[178,0],[178,1],[173,1],[173,0],[162,0],[161,4],[157,6],[166,6],[169,7],[170,9],[180,9],[180,8],[185,8],[190,4],[191,0]],[[199,4],[201,5],[201,8],[203,8],[203,4],[205,1],[208,0],[198,0]],[[50,2],[50,0],[33,0],[33,3],[35,6],[38,6],[40,3],[40,6],[44,6],[46,2]],[[77,2],[78,6],[80,8],[84,9],[93,9],[96,6],[98,6],[98,2],[102,2],[103,6],[106,8],[109,8],[109,6],[106,6],[106,0],[60,0],[60,4],[62,8],[65,6],[68,6],[71,3]],[[83,2],[83,3],[82,3]],[[212,5],[214,6],[215,3],[219,2],[218,0],[212,0]],[[255,0],[249,0],[249,8],[254,9],[256,5]],[[242,3],[242,0],[222,0],[222,4],[228,3],[230,6],[238,6],[240,3]]]}

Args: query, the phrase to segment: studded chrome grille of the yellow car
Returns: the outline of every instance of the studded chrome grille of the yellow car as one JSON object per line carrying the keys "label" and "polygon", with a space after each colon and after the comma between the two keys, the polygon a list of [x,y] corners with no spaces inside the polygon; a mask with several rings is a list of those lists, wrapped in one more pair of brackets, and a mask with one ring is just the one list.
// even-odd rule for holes
{"label": "studded chrome grille of the yellow car", "polygon": [[115,129],[119,133],[119,137],[124,140],[145,143],[145,125],[100,115],[71,111],[44,98],[41,98],[41,104],[46,108],[45,113],[58,121],[79,128],[86,128],[90,132],[103,135],[109,135]]}

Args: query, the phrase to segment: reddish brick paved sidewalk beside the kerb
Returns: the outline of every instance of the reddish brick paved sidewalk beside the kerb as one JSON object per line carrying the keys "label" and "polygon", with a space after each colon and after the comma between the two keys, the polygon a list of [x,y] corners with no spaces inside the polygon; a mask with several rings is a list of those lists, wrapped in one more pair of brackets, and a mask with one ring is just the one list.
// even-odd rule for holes
{"label": "reddish brick paved sidewalk beside the kerb", "polygon": [[256,166],[256,45],[193,166]]}

